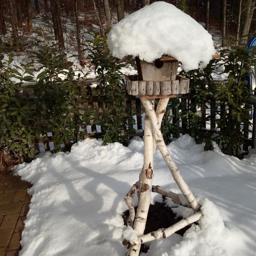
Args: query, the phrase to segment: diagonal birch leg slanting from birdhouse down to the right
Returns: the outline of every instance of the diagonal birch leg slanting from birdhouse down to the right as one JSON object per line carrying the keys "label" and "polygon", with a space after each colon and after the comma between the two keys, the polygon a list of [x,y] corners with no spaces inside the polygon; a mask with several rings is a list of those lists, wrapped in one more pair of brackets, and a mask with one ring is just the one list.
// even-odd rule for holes
{"label": "diagonal birch leg slanting from birdhouse down to the right", "polygon": [[175,164],[174,160],[172,159],[170,151],[168,150],[168,148],[166,147],[166,145],[164,143],[163,136],[162,136],[162,133],[159,128],[158,119],[156,117],[156,113],[154,110],[154,106],[151,104],[150,100],[148,100],[148,99],[141,98],[141,102],[143,103],[144,108],[147,112],[147,115],[150,119],[150,122],[152,125],[152,130],[153,130],[153,136],[156,141],[156,146],[158,147],[159,151],[161,152],[167,166],[169,167],[169,169],[171,171],[174,181],[177,183],[182,194],[187,199],[187,202],[190,204],[191,208],[194,211],[197,211],[199,208],[197,199],[195,199],[194,195],[190,191],[186,182],[182,178],[177,165]]}

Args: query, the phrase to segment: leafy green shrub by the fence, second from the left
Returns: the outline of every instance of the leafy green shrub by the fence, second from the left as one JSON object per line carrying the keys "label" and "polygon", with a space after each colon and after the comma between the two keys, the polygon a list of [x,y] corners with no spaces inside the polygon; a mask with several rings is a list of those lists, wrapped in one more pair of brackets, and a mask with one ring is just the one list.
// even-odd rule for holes
{"label": "leafy green shrub by the fence, second from the left", "polygon": [[[84,113],[82,104],[87,94],[84,81],[87,74],[75,75],[73,62],[68,61],[67,55],[58,49],[57,44],[48,45],[47,38],[42,37],[35,52],[36,61],[41,64],[36,77],[34,90],[36,116],[43,134],[53,133],[55,151],[64,144],[62,150],[70,150],[73,143],[86,135],[86,129],[81,129],[91,113]],[[32,75],[32,73],[31,73]]]}

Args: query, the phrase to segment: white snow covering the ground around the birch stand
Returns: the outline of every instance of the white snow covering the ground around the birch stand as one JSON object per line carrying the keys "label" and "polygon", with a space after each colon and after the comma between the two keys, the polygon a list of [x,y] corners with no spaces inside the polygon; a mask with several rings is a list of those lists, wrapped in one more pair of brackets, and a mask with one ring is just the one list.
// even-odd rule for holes
{"label": "white snow covering the ground around the birch stand", "polygon": [[[256,254],[256,154],[239,160],[214,144],[183,135],[168,148],[181,174],[202,205],[203,217],[182,237],[178,234],[149,243],[143,256],[253,256]],[[135,234],[123,223],[124,196],[143,165],[143,141],[129,147],[101,146],[96,139],[76,143],[71,152],[41,153],[15,172],[33,184],[30,210],[19,256],[125,255],[124,237]],[[180,193],[162,156],[154,158],[154,185]],[[153,193],[152,203],[162,201]],[[137,204],[137,196],[133,198]],[[191,210],[174,205],[178,216]]]}

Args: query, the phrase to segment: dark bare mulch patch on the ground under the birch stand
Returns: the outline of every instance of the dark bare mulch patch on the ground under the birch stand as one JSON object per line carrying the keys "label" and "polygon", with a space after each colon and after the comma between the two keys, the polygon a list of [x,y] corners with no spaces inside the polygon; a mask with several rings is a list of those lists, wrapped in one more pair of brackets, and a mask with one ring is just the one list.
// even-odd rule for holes
{"label": "dark bare mulch patch on the ground under the birch stand", "polygon": [[[137,207],[135,207],[135,212]],[[127,226],[127,219],[129,217],[129,210],[126,210],[123,215],[124,225]],[[148,217],[146,222],[146,228],[144,234],[151,233],[152,231],[158,230],[159,228],[168,228],[171,225],[182,220],[181,217],[176,217],[171,210],[171,207],[167,206],[166,203],[156,202],[154,205],[150,205],[148,210]],[[183,234],[191,227],[191,225],[186,226],[185,228],[178,230],[177,234],[183,236]],[[148,247],[142,245],[140,252],[147,252]]]}

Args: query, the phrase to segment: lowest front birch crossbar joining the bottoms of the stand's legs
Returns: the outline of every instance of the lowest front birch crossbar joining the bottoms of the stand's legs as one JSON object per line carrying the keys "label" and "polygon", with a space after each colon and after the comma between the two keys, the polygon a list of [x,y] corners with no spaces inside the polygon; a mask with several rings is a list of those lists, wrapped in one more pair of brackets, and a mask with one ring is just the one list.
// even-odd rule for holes
{"label": "lowest front birch crossbar joining the bottoms of the stand's legs", "polygon": [[183,218],[181,221],[175,223],[174,225],[170,226],[166,229],[158,229],[156,231],[153,231],[151,233],[139,236],[137,240],[130,240],[130,244],[132,245],[139,245],[144,244],[146,242],[150,242],[159,238],[166,238],[168,236],[171,236],[173,233],[177,232],[178,230],[185,228],[185,226],[190,225],[202,217],[202,212],[196,212],[193,215]]}

